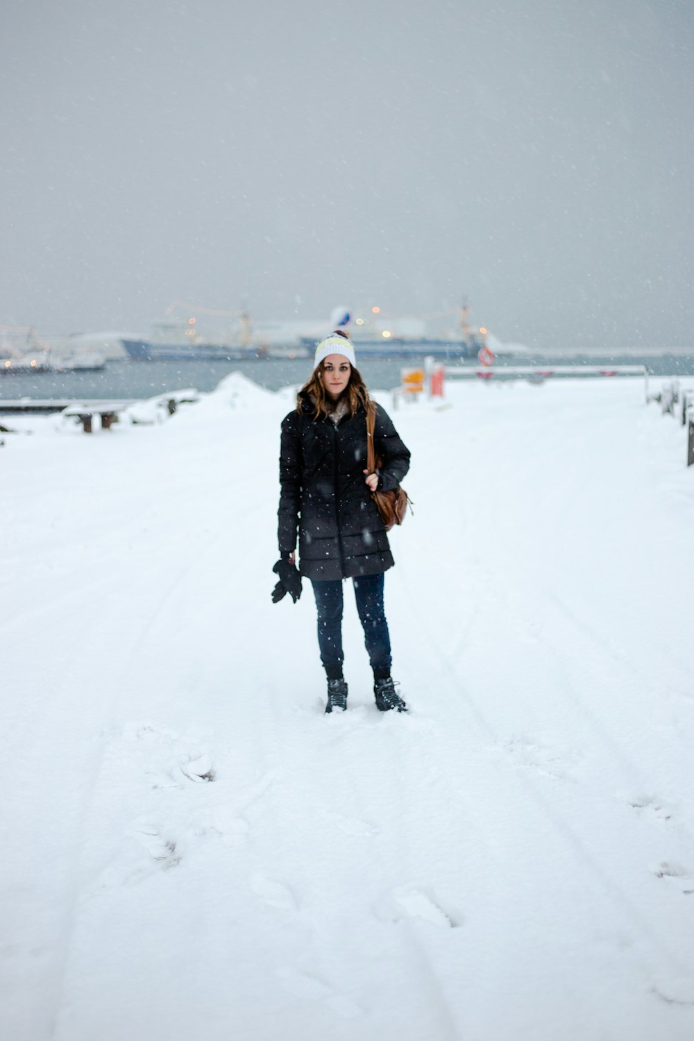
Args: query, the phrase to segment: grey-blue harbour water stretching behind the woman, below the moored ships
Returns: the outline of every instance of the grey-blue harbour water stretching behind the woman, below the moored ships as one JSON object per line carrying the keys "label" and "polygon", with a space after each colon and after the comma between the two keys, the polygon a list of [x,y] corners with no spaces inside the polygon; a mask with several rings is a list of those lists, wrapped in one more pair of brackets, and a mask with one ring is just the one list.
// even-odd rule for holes
{"label": "grey-blue harbour water stretching behind the woman, below the moored ships", "polygon": [[[421,358],[403,361],[364,360],[359,365],[372,390],[389,390],[400,384],[403,367],[420,364]],[[547,357],[508,355],[497,364],[631,364],[647,365],[654,376],[694,376],[694,351],[677,354],[605,354],[600,357]],[[452,361],[448,362],[453,363]],[[466,364],[470,364],[466,361]],[[264,358],[248,361],[109,361],[95,373],[33,373],[0,376],[0,399],[120,399],[153,398],[166,390],[214,389],[232,372],[241,372],[268,390],[304,383],[311,374],[310,358]]]}

